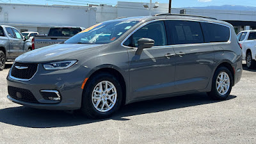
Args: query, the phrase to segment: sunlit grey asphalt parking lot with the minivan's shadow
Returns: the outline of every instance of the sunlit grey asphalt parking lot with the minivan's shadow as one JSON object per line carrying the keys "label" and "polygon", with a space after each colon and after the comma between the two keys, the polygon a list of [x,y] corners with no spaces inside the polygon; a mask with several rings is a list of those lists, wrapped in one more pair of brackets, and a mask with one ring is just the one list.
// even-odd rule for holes
{"label": "sunlit grey asphalt parking lot with the minivan's shadow", "polygon": [[0,143],[256,143],[256,70],[227,100],[206,93],[129,104],[106,120],[10,102],[0,71]]}

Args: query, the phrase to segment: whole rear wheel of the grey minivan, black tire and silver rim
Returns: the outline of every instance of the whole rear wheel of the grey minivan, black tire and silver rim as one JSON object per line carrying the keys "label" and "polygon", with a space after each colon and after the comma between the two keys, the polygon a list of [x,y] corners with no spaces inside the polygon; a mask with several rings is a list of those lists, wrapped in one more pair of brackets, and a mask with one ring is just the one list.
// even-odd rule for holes
{"label": "whole rear wheel of the grey minivan, black tire and silver rim", "polygon": [[[221,75],[224,79],[221,80]],[[212,78],[212,90],[207,94],[214,100],[225,100],[230,94],[233,86],[233,77],[227,67],[220,67]],[[221,90],[223,88],[223,90]]]}

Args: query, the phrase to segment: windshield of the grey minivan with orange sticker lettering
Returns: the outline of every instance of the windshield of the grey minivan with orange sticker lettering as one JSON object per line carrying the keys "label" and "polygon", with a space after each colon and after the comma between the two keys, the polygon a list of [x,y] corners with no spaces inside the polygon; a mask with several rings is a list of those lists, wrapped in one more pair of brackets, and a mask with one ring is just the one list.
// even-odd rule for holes
{"label": "windshield of the grey minivan with orange sticker lettering", "polygon": [[65,41],[65,44],[108,44],[117,40],[139,20],[114,20],[95,24]]}

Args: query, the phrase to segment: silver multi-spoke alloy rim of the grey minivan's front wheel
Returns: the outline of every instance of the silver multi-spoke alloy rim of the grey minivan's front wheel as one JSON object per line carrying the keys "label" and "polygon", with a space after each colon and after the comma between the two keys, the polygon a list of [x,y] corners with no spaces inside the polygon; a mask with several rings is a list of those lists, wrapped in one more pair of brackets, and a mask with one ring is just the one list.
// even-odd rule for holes
{"label": "silver multi-spoke alloy rim of the grey minivan's front wheel", "polygon": [[101,81],[92,92],[92,103],[95,109],[100,112],[107,112],[116,104],[116,87],[109,81]]}

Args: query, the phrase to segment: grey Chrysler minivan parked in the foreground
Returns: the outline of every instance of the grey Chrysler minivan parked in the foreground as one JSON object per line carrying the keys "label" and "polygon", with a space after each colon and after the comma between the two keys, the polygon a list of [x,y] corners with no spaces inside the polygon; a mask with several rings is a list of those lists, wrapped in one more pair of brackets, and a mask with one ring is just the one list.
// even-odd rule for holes
{"label": "grey Chrysler minivan parked in the foreground", "polygon": [[227,99],[242,70],[242,51],[227,22],[170,14],[131,17],[19,56],[7,77],[8,99],[106,118],[140,100],[196,92]]}

